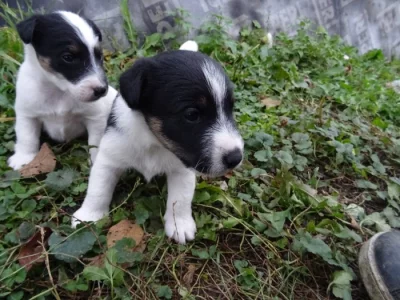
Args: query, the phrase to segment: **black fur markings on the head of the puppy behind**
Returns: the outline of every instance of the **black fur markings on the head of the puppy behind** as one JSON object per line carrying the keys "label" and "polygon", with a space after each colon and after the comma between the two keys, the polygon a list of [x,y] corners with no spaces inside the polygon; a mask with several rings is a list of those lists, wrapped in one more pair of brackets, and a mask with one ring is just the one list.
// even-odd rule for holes
{"label": "black fur markings on the head of the puppy behind", "polygon": [[[90,20],[85,21],[100,42],[101,33],[98,27]],[[95,64],[102,67],[100,46],[90,48],[93,46],[89,46],[84,40],[79,33],[80,28],[60,12],[34,15],[20,22],[17,30],[22,41],[33,46],[39,63],[45,70],[62,74],[72,83],[92,72]],[[94,61],[91,55],[94,56]],[[106,82],[105,78],[103,80]]]}

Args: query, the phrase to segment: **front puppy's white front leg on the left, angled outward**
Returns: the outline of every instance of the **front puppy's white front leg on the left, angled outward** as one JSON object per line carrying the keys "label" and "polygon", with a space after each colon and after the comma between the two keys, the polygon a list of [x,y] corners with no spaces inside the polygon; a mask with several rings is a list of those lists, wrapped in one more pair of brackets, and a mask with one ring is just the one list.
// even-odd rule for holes
{"label": "front puppy's white front leg on the left, angled outward", "polygon": [[89,176],[85,200],[72,217],[72,227],[81,221],[97,221],[108,214],[115,185],[123,170],[108,162],[101,151]]}

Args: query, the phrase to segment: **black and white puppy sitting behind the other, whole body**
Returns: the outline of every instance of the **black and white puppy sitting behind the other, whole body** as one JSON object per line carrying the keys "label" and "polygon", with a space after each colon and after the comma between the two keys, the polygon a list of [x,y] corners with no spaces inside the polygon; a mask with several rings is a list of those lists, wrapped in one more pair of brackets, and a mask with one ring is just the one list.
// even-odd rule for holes
{"label": "black and white puppy sitting behind the other, whole body", "polygon": [[[60,142],[87,131],[89,145],[98,146],[117,95],[104,73],[100,30],[65,11],[34,15],[17,30],[24,61],[17,77],[17,141],[9,166],[20,169],[35,157],[42,128]],[[90,150],[92,162],[96,153]]]}

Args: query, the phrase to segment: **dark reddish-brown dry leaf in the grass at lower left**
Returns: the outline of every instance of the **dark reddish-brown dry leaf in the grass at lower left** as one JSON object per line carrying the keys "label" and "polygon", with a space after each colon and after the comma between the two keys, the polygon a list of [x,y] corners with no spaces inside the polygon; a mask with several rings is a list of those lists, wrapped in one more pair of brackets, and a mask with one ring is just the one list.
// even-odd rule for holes
{"label": "dark reddish-brown dry leaf in the grass at lower left", "polygon": [[18,261],[21,266],[25,267],[26,271],[29,271],[34,264],[42,263],[45,260],[45,257],[42,256],[42,243],[46,247],[51,229],[48,227],[43,229],[43,236],[40,231],[36,232],[19,250]]}

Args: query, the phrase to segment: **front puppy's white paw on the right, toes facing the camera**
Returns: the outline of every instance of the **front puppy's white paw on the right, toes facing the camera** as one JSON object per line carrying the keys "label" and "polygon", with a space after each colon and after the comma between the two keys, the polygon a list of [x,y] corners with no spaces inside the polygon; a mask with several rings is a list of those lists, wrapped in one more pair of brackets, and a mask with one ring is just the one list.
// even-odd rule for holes
{"label": "front puppy's white paw on the right, toes facing the camera", "polygon": [[194,240],[196,234],[196,223],[191,215],[179,216],[166,213],[165,233],[169,238],[174,239],[179,244]]}

